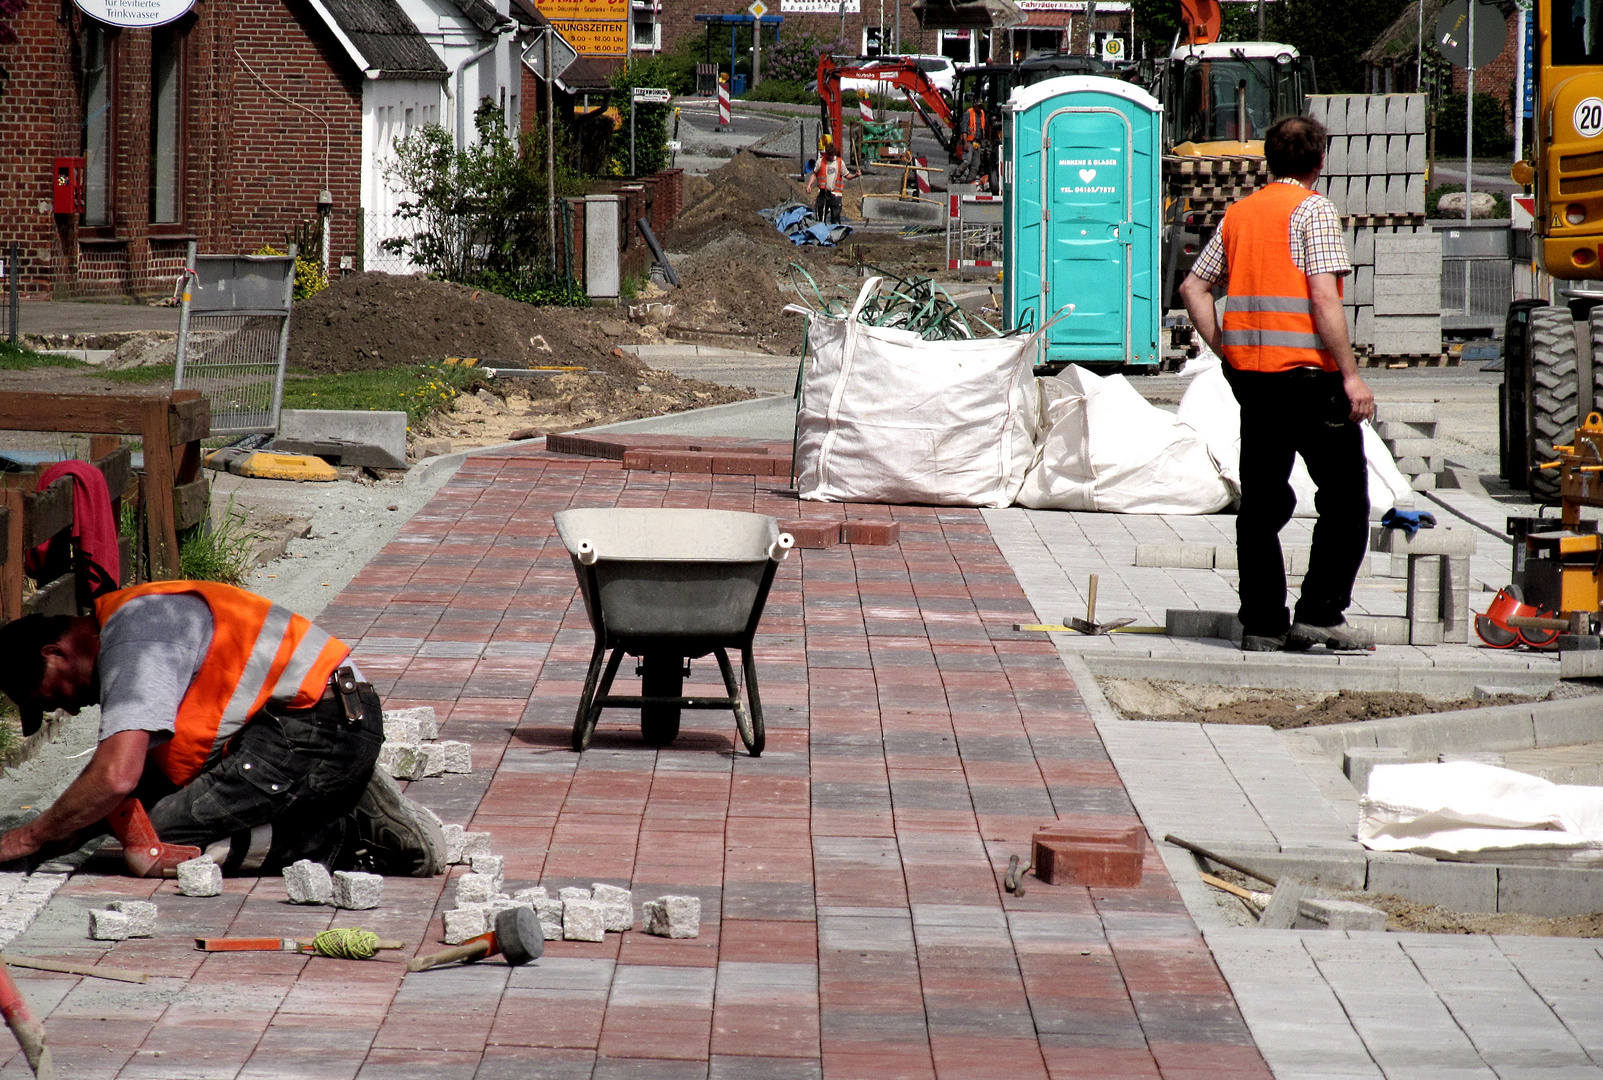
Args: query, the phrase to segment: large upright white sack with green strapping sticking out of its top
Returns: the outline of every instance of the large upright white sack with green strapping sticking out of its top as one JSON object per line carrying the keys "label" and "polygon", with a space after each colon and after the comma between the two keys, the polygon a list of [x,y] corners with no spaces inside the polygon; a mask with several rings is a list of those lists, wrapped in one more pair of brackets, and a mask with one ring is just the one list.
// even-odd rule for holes
{"label": "large upright white sack with green strapping sticking out of its top", "polygon": [[1034,336],[925,341],[808,312],[811,364],[797,409],[802,498],[1010,506],[1036,452]]}

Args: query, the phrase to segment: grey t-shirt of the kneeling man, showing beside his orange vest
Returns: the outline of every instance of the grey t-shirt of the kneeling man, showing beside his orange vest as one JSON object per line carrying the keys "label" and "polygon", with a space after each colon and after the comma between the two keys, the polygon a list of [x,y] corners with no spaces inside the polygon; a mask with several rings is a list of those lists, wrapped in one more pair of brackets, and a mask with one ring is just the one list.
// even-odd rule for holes
{"label": "grey t-shirt of the kneeling man, showing beside his orange vest", "polygon": [[101,628],[101,739],[147,731],[152,744],[173,737],[207,649],[212,609],[194,593],[136,596]]}

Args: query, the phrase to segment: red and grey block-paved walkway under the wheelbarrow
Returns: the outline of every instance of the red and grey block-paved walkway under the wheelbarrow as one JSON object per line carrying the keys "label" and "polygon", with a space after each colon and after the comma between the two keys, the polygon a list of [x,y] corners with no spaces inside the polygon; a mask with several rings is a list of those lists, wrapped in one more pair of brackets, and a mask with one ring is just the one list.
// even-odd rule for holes
{"label": "red and grey block-paved walkway under the wheelbarrow", "polygon": [[[630,465],[673,453],[635,445]],[[390,880],[378,910],[337,913],[285,904],[277,880],[192,899],[80,875],[16,949],[157,977],[24,974],[58,1069],[678,1080],[713,1061],[781,1080],[1268,1077],[1156,852],[1140,888],[1002,891],[1008,856],[1028,857],[1040,825],[1138,822],[1053,646],[1011,630],[1034,612],[978,511],[851,506],[899,540],[781,564],[757,643],[761,758],[710,711],[688,711],[659,752],[611,711],[585,755],[567,750],[593,638],[551,514],[846,519],[776,487],[539,449],[470,458],[319,620],[356,644],[390,705],[433,705],[442,737],[473,744],[473,776],[412,795],[489,830],[507,888],[694,893],[701,937],[548,942],[516,971],[402,977],[407,957],[438,947],[449,878]],[[705,660],[688,686],[721,692]],[[154,894],[160,936],[87,942],[83,910],[107,894]],[[351,925],[410,949],[372,961],[192,950],[202,933]]]}

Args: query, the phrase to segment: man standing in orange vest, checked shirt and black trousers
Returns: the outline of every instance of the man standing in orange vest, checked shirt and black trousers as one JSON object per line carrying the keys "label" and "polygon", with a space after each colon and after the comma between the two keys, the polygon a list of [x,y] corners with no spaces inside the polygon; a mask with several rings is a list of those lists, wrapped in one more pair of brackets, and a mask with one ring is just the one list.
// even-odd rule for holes
{"label": "man standing in orange vest, checked shirt and black trousers", "polygon": [[[1359,421],[1375,412],[1342,311],[1353,272],[1342,223],[1313,191],[1329,135],[1284,117],[1263,141],[1274,183],[1234,204],[1180,285],[1191,324],[1225,359],[1241,402],[1241,647],[1302,652],[1316,644],[1374,649],[1342,612],[1369,546],[1369,466]],[[1212,288],[1230,282],[1223,333]],[[1281,529],[1297,508],[1290,473],[1300,453],[1318,489],[1313,551],[1297,617],[1286,611]]]}

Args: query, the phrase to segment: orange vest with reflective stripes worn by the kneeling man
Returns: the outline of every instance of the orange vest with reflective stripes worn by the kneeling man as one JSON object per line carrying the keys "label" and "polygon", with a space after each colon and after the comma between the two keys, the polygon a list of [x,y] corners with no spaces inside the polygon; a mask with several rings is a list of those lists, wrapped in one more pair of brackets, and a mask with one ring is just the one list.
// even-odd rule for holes
{"label": "orange vest with reflective stripes worn by the kneeling man", "polygon": [[173,737],[151,758],[173,784],[188,784],[263,705],[311,708],[351,647],[264,596],[215,582],[151,582],[95,601],[104,628],[131,599],[189,593],[212,609],[212,647],[196,671]]}

